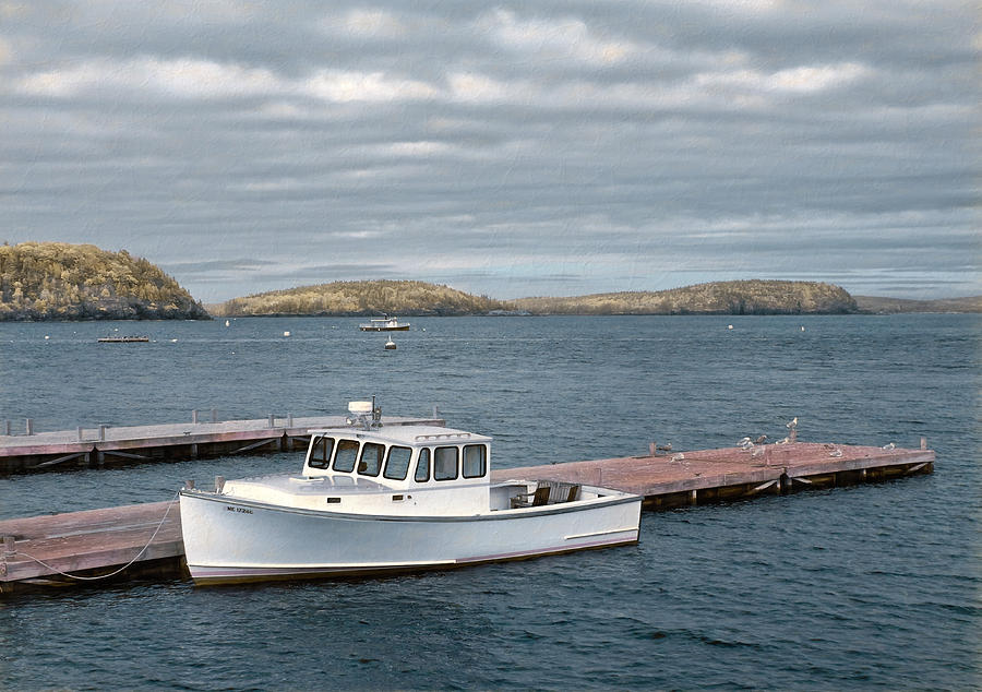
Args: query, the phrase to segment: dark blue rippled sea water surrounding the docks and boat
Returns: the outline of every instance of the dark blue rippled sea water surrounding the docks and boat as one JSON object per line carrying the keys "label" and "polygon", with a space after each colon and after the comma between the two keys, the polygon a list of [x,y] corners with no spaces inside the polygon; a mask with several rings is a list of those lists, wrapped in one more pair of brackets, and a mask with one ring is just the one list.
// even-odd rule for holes
{"label": "dark blue rippled sea water surrounding the docks and boat", "polygon": [[[528,562],[8,598],[0,689],[982,687],[979,317],[410,321],[395,351],[347,319],[0,324],[0,420],[342,414],[376,395],[384,414],[436,405],[493,436],[507,467],[777,439],[798,416],[803,441],[925,436],[935,473],[645,513],[636,547]],[[96,343],[116,329],[154,341]],[[279,454],[0,478],[0,517],[299,466]]]}

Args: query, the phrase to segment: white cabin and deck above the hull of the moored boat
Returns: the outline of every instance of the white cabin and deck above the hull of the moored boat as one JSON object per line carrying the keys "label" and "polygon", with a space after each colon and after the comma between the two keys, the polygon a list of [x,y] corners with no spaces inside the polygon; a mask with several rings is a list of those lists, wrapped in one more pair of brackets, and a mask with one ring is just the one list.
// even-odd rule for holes
{"label": "white cabin and deck above the hull of the moored boat", "polygon": [[225,481],[219,493],[307,510],[478,515],[584,499],[578,485],[491,482],[491,438],[440,426],[384,426],[371,402],[348,425],[312,430],[303,469]]}

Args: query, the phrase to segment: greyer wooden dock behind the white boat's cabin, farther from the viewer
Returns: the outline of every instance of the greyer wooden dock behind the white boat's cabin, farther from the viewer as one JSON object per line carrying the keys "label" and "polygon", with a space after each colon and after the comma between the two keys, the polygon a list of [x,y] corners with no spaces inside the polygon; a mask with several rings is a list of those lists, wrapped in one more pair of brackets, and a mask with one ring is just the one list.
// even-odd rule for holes
{"label": "greyer wooden dock behind the white boat's cabin, farther from the viewer", "polygon": [[[43,470],[55,466],[100,467],[119,462],[190,460],[202,456],[256,454],[307,449],[310,431],[345,425],[344,416],[294,418],[268,416],[250,420],[156,426],[77,428],[57,432],[0,434],[0,474]],[[385,425],[444,425],[441,418],[386,416]],[[31,429],[32,426],[28,426]]]}

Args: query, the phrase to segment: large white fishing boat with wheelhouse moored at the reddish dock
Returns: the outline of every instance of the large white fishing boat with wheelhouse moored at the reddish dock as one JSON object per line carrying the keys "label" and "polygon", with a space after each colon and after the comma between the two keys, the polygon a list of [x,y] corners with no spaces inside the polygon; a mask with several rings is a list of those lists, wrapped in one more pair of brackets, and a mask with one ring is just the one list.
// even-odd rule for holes
{"label": "large white fishing boat with wheelhouse moored at the reddish dock", "polygon": [[446,569],[637,541],[638,496],[491,482],[491,438],[385,425],[373,402],[349,410],[347,426],[311,432],[299,475],[181,490],[195,583]]}

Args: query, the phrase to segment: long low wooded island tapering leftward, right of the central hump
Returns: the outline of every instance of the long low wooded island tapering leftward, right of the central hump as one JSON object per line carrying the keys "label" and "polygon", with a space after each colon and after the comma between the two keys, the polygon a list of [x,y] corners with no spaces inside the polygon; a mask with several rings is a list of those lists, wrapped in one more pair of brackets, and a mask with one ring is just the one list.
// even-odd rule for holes
{"label": "long low wooded island tapering leftward, right of the central hump", "polygon": [[536,314],[838,314],[859,310],[852,296],[839,286],[765,279],[573,298],[520,298],[510,305]]}

